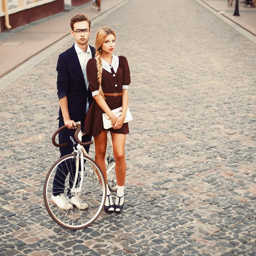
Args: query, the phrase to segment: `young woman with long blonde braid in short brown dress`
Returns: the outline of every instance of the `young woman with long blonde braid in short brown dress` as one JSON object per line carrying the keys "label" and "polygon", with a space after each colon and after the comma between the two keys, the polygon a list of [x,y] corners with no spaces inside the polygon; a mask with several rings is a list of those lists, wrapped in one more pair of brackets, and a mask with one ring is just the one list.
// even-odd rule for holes
{"label": "young woman with long blonde braid in short brown dress", "polygon": [[[130,70],[124,56],[113,55],[116,34],[110,27],[103,27],[96,35],[96,55],[87,63],[87,79],[94,101],[87,113],[84,132],[94,137],[95,161],[106,177],[105,154],[107,147],[107,130],[103,128],[102,113],[111,118],[111,137],[116,160],[117,192],[113,204],[107,186],[106,212],[120,212],[124,205],[125,186],[125,135],[129,133],[128,123],[124,123],[128,108],[128,85],[131,82]],[[122,107],[118,118],[111,110]],[[107,180],[107,179],[106,179]]]}

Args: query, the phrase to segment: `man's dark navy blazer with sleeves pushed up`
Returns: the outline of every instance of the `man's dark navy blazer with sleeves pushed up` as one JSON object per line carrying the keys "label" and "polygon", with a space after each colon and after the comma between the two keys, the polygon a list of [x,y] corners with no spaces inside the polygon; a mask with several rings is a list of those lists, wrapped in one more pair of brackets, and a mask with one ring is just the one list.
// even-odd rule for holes
{"label": "man's dark navy blazer with sleeves pushed up", "polygon": [[[89,45],[92,57],[94,58],[96,50]],[[84,120],[86,116],[87,98],[89,105],[93,102],[93,96],[90,88],[86,88],[83,71],[76,53],[75,45],[59,55],[57,68],[57,90],[58,98],[67,96],[67,107],[70,119],[75,122]],[[61,108],[59,117],[63,119]]]}

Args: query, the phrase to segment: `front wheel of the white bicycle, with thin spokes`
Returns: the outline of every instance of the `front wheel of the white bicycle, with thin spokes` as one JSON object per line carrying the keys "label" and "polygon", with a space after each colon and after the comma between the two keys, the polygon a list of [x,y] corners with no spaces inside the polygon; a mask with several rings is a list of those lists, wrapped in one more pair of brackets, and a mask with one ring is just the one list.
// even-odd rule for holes
{"label": "front wheel of the white bicycle, with thin spokes", "polygon": [[[99,166],[87,156],[83,157],[82,166],[77,154],[61,157],[49,170],[44,183],[44,203],[49,215],[60,226],[73,230],[92,224],[102,212],[106,199],[105,177]],[[71,209],[60,209],[52,196],[62,193],[67,200],[78,196],[89,207],[78,209],[71,204]]]}

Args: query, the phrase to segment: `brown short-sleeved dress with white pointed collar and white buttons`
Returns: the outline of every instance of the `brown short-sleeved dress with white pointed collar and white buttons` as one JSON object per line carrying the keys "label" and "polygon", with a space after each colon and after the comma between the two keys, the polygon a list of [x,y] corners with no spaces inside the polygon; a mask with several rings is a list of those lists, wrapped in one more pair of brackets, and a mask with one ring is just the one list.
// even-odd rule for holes
{"label": "brown short-sleeved dress with white pointed collar and white buttons", "polygon": [[[115,60],[115,63],[113,63],[113,60]],[[128,86],[131,83],[130,70],[127,59],[124,56],[113,55],[113,60],[111,65],[109,65],[102,59],[103,93],[122,93],[123,85]],[[86,66],[86,73],[90,91],[93,93],[99,90],[99,82],[97,79],[98,71],[95,58],[92,58],[88,61]],[[111,110],[122,107],[122,96],[105,96],[105,98],[106,103]],[[106,131],[106,129],[103,127],[102,113],[104,113],[102,108],[100,108],[97,102],[94,100],[89,108],[84,122],[84,133],[95,137],[99,135],[101,131]],[[124,123],[120,129],[110,128],[108,131],[116,134],[128,134],[128,123]]]}

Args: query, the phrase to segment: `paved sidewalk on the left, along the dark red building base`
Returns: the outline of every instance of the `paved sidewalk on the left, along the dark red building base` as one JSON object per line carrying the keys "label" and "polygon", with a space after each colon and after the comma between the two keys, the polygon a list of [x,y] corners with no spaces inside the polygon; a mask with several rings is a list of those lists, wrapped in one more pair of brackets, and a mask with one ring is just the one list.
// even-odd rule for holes
{"label": "paved sidewalk on the left, along the dark red building base", "polygon": [[70,20],[84,13],[91,20],[122,3],[123,0],[103,0],[101,11],[91,9],[91,3],[78,6],[70,12],[62,12],[0,34],[0,78],[69,34]]}

